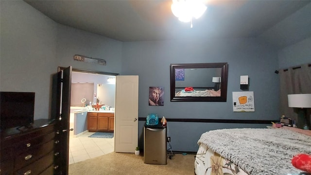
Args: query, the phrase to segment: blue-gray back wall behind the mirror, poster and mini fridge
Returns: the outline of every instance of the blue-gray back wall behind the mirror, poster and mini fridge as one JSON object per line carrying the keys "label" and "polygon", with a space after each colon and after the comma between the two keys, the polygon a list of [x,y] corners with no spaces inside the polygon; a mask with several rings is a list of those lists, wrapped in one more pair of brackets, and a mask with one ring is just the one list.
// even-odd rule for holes
{"label": "blue-gray back wall behind the mirror, poster and mini fridge", "polygon": [[[139,75],[138,117],[277,120],[279,79],[277,53],[256,39],[124,42],[122,74]],[[170,102],[171,63],[228,63],[227,102]],[[232,92],[241,91],[240,75],[249,75],[255,112],[233,112]],[[164,106],[149,106],[149,87],[164,87]],[[139,121],[139,144],[143,125]],[[168,123],[174,151],[197,151],[201,134],[212,129],[265,127],[265,124]]]}

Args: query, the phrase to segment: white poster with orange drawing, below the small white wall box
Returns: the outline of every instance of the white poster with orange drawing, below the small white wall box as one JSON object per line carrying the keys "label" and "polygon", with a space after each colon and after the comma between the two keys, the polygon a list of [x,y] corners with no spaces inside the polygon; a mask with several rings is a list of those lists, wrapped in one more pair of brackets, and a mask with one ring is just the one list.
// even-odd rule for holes
{"label": "white poster with orange drawing, below the small white wall box", "polygon": [[232,92],[233,112],[255,112],[254,92]]}

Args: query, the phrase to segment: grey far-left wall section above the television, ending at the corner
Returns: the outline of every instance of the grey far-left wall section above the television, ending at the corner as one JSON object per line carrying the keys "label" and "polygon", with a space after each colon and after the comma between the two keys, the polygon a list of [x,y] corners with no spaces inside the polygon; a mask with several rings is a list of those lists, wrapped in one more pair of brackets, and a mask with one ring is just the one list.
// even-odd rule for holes
{"label": "grey far-left wall section above the television, ending at the corner", "polygon": [[34,118],[50,118],[56,23],[21,0],[0,1],[0,22],[0,90],[35,92]]}

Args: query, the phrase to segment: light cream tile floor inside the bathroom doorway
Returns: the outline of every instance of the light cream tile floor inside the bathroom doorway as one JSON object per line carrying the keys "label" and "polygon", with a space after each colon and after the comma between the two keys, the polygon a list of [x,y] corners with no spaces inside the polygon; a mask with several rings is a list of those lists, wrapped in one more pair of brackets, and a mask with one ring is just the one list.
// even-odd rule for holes
{"label": "light cream tile floor inside the bathroom doorway", "polygon": [[114,138],[89,138],[92,134],[87,132],[79,137],[69,136],[69,164],[114,152]]}

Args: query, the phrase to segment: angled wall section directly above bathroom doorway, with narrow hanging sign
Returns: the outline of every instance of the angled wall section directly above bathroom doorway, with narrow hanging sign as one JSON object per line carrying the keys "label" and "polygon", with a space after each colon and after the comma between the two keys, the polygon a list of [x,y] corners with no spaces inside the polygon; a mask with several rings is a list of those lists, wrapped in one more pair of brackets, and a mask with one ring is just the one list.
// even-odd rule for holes
{"label": "angled wall section directly above bathroom doorway, with narrow hanging sign", "polygon": [[[58,66],[120,73],[122,59],[122,42],[82,30],[57,26]],[[75,54],[106,60],[106,66],[74,61]]]}

